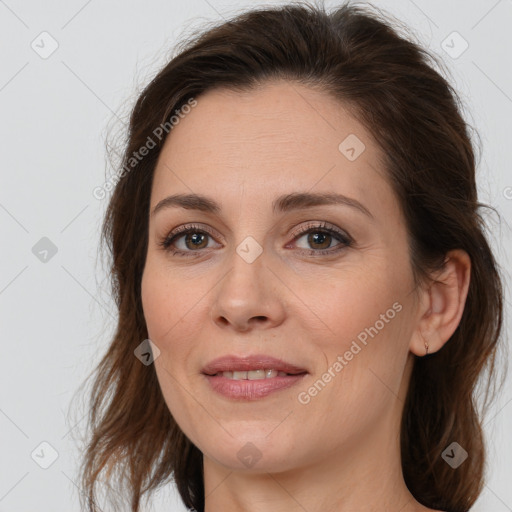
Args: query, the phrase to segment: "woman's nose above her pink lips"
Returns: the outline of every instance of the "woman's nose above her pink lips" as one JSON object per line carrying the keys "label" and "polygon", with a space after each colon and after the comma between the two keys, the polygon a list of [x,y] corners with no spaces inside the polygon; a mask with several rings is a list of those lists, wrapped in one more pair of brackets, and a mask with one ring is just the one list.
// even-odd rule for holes
{"label": "woman's nose above her pink lips", "polygon": [[284,321],[286,289],[268,260],[265,251],[250,263],[233,251],[229,270],[214,288],[211,316],[217,326],[245,332]]}

